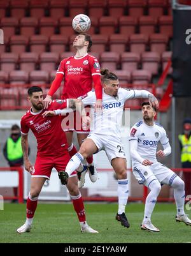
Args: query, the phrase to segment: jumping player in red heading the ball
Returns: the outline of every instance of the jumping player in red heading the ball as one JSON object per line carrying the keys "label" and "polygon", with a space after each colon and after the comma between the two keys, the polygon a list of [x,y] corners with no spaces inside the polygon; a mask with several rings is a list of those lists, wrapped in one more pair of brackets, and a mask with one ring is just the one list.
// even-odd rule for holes
{"label": "jumping player in red heading the ball", "polygon": [[[48,92],[44,100],[44,109],[48,107],[48,104],[52,101],[53,94],[59,89],[62,80],[64,79],[64,88],[62,91],[62,99],[66,98],[78,98],[82,95],[87,94],[92,90],[92,82],[94,82],[95,95],[97,102],[95,103],[95,110],[102,109],[102,86],[101,86],[101,70],[99,62],[94,56],[88,54],[90,47],[92,46],[92,40],[90,35],[85,33],[80,33],[73,41],[73,47],[76,49],[75,56],[63,59],[60,62],[60,66],[57,70],[55,79],[52,82],[50,91]],[[69,145],[68,151],[69,155],[72,157],[77,153],[76,148],[73,146],[73,132],[76,130],[78,143],[81,143],[87,138],[88,131],[83,131],[83,129],[76,127],[80,123],[80,119],[74,116],[74,120],[79,120],[79,122],[74,122],[73,128],[65,128],[67,143]],[[79,125],[78,125],[79,126]],[[88,172],[92,182],[97,180],[97,172],[93,164],[93,157],[89,156],[87,158]],[[85,176],[85,170],[80,175]],[[79,176],[78,176],[79,177]]]}

